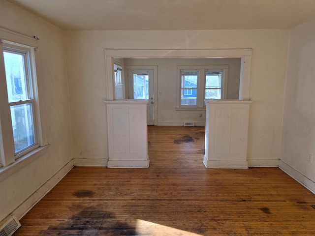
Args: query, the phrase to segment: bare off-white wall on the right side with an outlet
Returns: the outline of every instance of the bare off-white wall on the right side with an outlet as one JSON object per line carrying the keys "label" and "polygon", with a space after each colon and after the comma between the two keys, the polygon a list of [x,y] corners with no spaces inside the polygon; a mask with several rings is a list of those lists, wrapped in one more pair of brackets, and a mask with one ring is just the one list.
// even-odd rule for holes
{"label": "bare off-white wall on the right side with an outlet", "polygon": [[315,192],[315,20],[291,30],[281,165]]}

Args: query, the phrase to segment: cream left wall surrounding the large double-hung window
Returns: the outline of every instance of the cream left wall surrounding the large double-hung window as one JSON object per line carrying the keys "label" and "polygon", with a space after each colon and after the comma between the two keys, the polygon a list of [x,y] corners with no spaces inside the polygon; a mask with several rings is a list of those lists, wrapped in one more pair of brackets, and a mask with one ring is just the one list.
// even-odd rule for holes
{"label": "cream left wall surrounding the large double-hung window", "polygon": [[[43,94],[43,115],[50,144],[46,154],[28,165],[13,167],[13,174],[0,174],[2,220],[11,212],[18,217],[25,213],[57,181],[52,181],[52,177],[63,175],[60,170],[72,156],[63,31],[6,0],[0,0],[0,27],[40,38],[38,79],[42,84],[39,89]],[[45,187],[40,188],[42,185]]]}

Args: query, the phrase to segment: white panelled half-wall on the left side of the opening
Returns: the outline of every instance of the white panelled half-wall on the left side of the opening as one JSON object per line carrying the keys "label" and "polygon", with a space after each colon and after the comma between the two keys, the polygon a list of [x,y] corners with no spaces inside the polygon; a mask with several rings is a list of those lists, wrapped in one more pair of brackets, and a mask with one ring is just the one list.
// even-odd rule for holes
{"label": "white panelled half-wall on the left side of the opening", "polygon": [[147,100],[105,101],[109,168],[148,168]]}

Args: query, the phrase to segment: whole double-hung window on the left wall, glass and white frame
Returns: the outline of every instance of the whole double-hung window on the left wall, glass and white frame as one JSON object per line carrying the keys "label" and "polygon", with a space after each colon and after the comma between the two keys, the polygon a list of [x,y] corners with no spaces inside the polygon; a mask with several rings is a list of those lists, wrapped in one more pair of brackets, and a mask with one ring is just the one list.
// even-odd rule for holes
{"label": "whole double-hung window on the left wall, glass and white frame", "polygon": [[0,163],[6,166],[38,148],[41,135],[34,48],[3,41],[0,49]]}

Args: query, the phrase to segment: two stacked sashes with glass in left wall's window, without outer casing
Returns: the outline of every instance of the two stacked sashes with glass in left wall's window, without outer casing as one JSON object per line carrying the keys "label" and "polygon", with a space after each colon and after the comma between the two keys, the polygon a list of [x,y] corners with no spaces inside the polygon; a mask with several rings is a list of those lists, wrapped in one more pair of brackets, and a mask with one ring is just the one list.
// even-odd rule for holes
{"label": "two stacked sashes with glass in left wall's window, without outer casing", "polygon": [[[33,78],[28,47],[4,44],[3,59],[11,112],[15,158],[38,147],[34,111]],[[3,134],[2,134],[3,135]]]}

